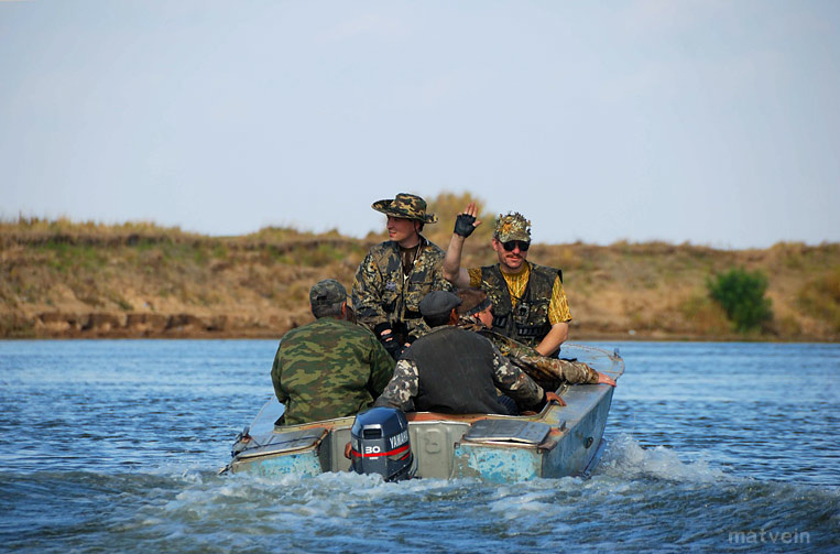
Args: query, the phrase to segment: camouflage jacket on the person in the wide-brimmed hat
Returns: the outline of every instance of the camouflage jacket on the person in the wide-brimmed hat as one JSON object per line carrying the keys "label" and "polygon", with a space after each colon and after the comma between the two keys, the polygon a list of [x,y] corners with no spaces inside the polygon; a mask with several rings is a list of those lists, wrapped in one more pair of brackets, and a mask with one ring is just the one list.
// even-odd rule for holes
{"label": "camouflage jacket on the person in the wide-brimmed hat", "polygon": [[[407,276],[403,273],[400,246],[385,241],[371,248],[356,273],[352,289],[356,317],[370,329],[386,323],[415,338],[428,330],[419,314],[419,301],[432,291],[451,291],[444,279],[446,252],[421,237],[421,250]],[[405,329],[402,329],[402,324]],[[403,337],[405,338],[405,337]]]}

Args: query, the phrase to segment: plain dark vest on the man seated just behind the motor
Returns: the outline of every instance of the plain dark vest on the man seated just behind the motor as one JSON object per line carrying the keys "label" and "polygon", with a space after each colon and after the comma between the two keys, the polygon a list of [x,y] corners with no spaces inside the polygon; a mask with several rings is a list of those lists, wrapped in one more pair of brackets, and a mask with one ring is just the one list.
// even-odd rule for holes
{"label": "plain dark vest on the man seated just behind the motor", "polygon": [[417,365],[418,412],[508,413],[493,382],[493,346],[478,334],[437,327],[418,338],[403,358]]}

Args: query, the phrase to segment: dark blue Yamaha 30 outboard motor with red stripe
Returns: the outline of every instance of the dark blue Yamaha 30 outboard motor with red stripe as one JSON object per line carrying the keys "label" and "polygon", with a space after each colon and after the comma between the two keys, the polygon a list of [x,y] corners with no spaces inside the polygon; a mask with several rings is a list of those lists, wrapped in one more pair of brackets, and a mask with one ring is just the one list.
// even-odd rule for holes
{"label": "dark blue Yamaha 30 outboard motor with red stripe", "polygon": [[394,408],[373,408],[356,416],[350,430],[351,468],[379,474],[386,481],[411,479],[417,466],[408,438],[408,421]]}

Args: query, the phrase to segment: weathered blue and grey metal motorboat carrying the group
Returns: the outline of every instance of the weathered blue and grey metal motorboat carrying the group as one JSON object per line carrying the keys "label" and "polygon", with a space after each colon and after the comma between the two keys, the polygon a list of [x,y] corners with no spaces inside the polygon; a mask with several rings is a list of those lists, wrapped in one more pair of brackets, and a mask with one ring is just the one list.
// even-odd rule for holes
{"label": "weathered blue and grey metal motorboat carrying the group", "polygon": [[[564,345],[560,357],[582,361],[617,380],[624,372],[618,349]],[[560,402],[516,416],[408,412],[413,476],[519,482],[586,475],[603,449],[613,391],[608,384],[560,383],[556,388]],[[232,459],[222,471],[315,476],[352,470],[348,453],[356,417],[275,425],[282,414],[276,398],[269,400],[236,438]]]}

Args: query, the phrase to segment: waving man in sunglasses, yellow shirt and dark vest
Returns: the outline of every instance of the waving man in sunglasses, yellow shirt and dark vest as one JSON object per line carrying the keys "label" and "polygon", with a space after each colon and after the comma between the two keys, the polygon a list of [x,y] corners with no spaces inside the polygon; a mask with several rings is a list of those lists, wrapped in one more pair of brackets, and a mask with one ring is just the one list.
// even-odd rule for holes
{"label": "waving man in sunglasses, yellow shirt and dark vest", "polygon": [[458,214],[444,260],[444,276],[459,289],[484,291],[493,305],[492,329],[556,357],[568,338],[571,313],[563,289],[563,272],[527,261],[531,221],[520,213],[499,215],[492,247],[499,263],[461,268],[463,241],[481,221],[474,203]]}

